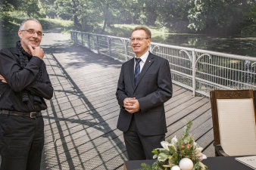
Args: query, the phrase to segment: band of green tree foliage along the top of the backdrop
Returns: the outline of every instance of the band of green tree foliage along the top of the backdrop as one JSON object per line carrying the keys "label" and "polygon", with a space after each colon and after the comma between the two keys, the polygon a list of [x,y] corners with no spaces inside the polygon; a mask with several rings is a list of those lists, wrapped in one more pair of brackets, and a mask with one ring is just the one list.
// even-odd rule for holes
{"label": "band of green tree foliage along the top of the backdrop", "polygon": [[2,0],[1,22],[12,23],[6,14],[12,11],[23,17],[73,20],[74,29],[114,35],[120,32],[114,24],[211,34],[237,34],[245,28],[245,35],[256,23],[255,0]]}

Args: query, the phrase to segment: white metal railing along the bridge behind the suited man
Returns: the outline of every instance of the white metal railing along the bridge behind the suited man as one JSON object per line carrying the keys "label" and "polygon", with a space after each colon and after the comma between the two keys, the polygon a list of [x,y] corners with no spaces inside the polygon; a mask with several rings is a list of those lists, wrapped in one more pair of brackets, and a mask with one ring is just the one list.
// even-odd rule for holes
{"label": "white metal railing along the bridge behind the suited man", "polygon": [[[89,32],[71,31],[71,39],[98,54],[121,60],[135,55],[130,39]],[[173,83],[205,96],[215,89],[256,89],[256,57],[164,45],[151,42],[151,53],[170,63]]]}

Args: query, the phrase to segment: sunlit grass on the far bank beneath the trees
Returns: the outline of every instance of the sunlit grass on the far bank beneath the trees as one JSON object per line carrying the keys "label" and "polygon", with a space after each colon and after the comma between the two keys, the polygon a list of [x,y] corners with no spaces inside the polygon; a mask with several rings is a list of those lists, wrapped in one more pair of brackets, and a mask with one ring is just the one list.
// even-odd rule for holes
{"label": "sunlit grass on the far bank beneath the trees", "polygon": [[[0,21],[2,22],[0,29],[2,29],[2,32],[17,32],[17,29],[19,29],[20,23],[23,20],[28,19],[27,14],[20,12],[20,11],[14,11],[14,12],[8,12],[5,14],[2,14],[2,17],[0,18]],[[70,36],[70,30],[75,29],[75,26],[73,25],[73,21],[71,20],[61,20],[59,18],[39,18],[38,19],[40,23],[42,24],[43,30],[45,29],[55,29],[55,28],[61,28],[61,32],[64,33],[66,36]],[[91,31],[93,33],[101,34],[101,29],[103,27],[103,23],[95,23],[94,29]],[[136,26],[136,24],[114,24],[114,26],[106,27],[105,32],[103,34],[110,35],[110,36],[119,36],[119,37],[126,37],[130,38],[132,30]],[[166,27],[158,28],[155,26],[147,26],[148,29],[151,30],[151,38],[152,41],[158,42],[158,39],[162,40],[167,39],[167,35],[170,34],[169,30]]]}

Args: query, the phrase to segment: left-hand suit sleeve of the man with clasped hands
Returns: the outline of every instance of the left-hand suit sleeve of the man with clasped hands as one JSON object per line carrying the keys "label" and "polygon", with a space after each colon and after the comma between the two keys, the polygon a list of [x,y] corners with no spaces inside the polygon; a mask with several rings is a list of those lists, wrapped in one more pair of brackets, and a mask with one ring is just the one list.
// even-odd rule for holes
{"label": "left-hand suit sleeve of the man with clasped hands", "polygon": [[124,74],[123,74],[123,65],[122,65],[120,76],[119,76],[119,79],[117,82],[117,92],[116,92],[117,101],[118,101],[118,104],[120,105],[120,107],[123,107],[123,100],[127,97],[127,94],[125,92],[123,76],[124,76]]}

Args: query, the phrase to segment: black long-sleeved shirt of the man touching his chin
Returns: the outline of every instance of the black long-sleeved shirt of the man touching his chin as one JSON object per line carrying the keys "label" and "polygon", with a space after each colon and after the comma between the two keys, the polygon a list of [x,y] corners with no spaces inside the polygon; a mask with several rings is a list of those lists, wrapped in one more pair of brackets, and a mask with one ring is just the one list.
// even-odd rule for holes
{"label": "black long-sleeved shirt of the man touching his chin", "polygon": [[[24,53],[23,53],[24,54]],[[29,62],[21,69],[18,48],[5,48],[0,51],[0,74],[7,83],[0,81],[0,110],[20,112],[39,112],[45,110],[40,104],[33,103],[33,108],[22,101],[23,91],[33,91],[38,97],[51,99],[52,83],[48,77],[44,61],[39,57],[24,54]],[[42,66],[42,82],[36,81],[36,75]],[[32,101],[33,102],[33,101]]]}

